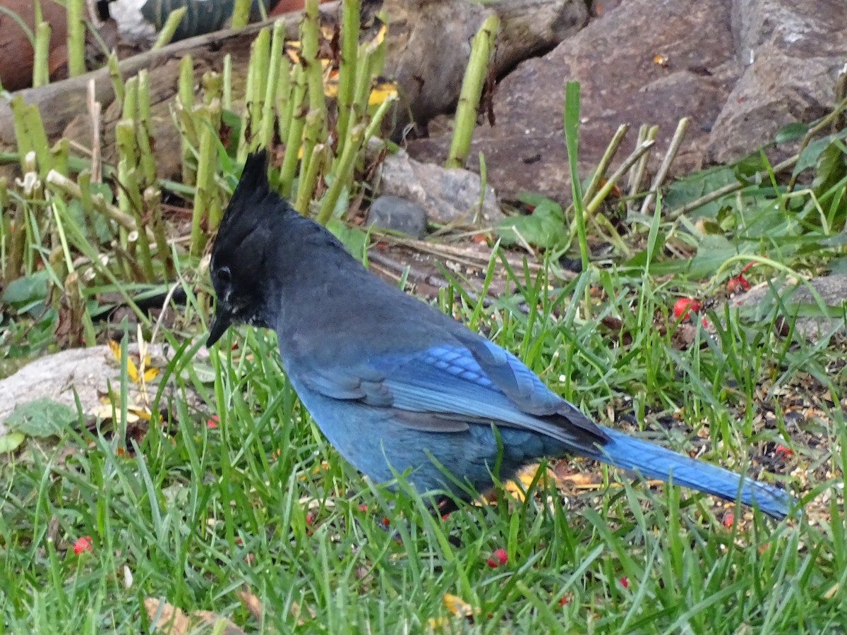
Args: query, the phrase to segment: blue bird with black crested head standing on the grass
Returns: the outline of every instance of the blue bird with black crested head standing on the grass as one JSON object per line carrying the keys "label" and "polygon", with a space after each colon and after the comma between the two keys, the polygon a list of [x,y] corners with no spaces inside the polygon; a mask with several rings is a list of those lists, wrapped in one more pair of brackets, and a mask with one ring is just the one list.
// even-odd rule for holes
{"label": "blue bird with black crested head standing on the grass", "polygon": [[517,356],[368,271],[267,171],[265,151],[247,157],[221,219],[207,345],[233,324],[273,329],[302,405],[368,478],[468,500],[542,457],[580,455],[778,519],[793,508],[784,489],[595,423]]}

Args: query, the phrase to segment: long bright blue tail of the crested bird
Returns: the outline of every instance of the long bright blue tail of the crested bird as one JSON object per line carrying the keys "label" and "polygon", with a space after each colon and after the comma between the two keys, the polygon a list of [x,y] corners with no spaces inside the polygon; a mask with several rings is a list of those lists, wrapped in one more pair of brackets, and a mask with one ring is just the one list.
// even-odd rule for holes
{"label": "long bright blue tail of the crested bird", "polygon": [[722,467],[697,461],[660,445],[642,441],[612,428],[600,426],[610,440],[593,452],[584,454],[623,470],[637,470],[645,478],[659,478],[667,483],[697,489],[726,500],[741,499],[745,505],[756,505],[774,518],[784,518],[794,502],[783,489],[742,477]]}

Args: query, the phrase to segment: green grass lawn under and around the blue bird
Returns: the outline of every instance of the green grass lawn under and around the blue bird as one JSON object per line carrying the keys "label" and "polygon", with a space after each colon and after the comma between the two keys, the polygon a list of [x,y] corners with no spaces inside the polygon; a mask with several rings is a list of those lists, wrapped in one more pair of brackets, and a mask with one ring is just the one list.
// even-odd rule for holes
{"label": "green grass lawn under and around the blue bird", "polygon": [[[749,448],[760,456],[778,440],[795,449],[803,469],[843,473],[847,428],[837,407],[819,422],[826,443],[815,450],[776,427],[746,429],[744,414],[780,401],[751,395],[750,384],[790,384],[798,367],[820,378],[830,399],[844,400],[844,368],[825,370],[837,351],[785,346],[767,323],[751,329],[734,313],[719,334],[700,332],[705,348],[674,351],[670,336],[653,328],[664,290],[648,278],[607,273],[609,293],[593,311],[626,316],[634,335],[632,345],[611,345],[570,300],[582,295],[587,276],[552,290],[544,274],[512,271],[511,280],[514,293],[485,310],[461,301],[455,285],[444,299],[599,418],[608,403],[639,421],[647,412],[645,427],[679,450],[692,447],[684,427],[708,421],[707,461],[740,469]],[[528,313],[514,309],[520,302]],[[205,404],[191,411],[185,400],[162,397],[168,419],[130,456],[116,455],[108,430],[83,431],[69,433],[58,450],[33,446],[0,467],[0,624],[8,632],[147,632],[145,598],[213,610],[253,632],[847,627],[840,478],[779,476],[800,495],[811,492],[806,502],[832,497],[788,523],[736,510],[744,522],[725,527],[710,499],[649,489],[612,470],[601,472],[607,486],[556,488],[540,478],[523,502],[499,494],[493,505],[439,520],[418,494],[392,494],[347,466],[286,384],[274,338],[243,333],[235,351],[221,345],[222,356],[212,358],[213,384],[192,370],[199,344],[174,338],[179,353],[167,373],[199,389]],[[682,426],[656,424],[679,409]],[[206,426],[212,413],[218,428]],[[75,539],[86,535],[93,550],[75,554]],[[498,548],[507,550],[507,564],[491,568],[486,560]],[[236,595],[244,584],[262,602],[263,625]],[[445,594],[473,607],[473,624],[451,613]]]}

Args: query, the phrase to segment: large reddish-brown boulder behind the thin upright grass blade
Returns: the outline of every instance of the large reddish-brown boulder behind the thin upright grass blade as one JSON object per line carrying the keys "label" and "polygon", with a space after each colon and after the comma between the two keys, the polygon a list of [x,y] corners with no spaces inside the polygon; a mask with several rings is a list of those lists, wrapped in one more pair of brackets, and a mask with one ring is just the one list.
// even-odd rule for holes
{"label": "large reddish-brown boulder behind the thin upright grass blade", "polygon": [[[724,0],[684,6],[623,0],[501,81],[494,98],[496,124],[475,131],[468,156],[484,153],[489,179],[501,196],[529,190],[569,199],[562,110],[567,81],[579,80],[581,174],[596,165],[620,124],[659,125],[657,162],[685,116],[693,122],[674,167],[699,168],[711,124],[735,80],[726,68],[733,47],[730,14]],[[668,58],[667,67],[653,61],[657,54]],[[632,151],[635,132],[618,157]],[[441,160],[449,143],[447,138],[412,141],[408,150],[412,157]]]}

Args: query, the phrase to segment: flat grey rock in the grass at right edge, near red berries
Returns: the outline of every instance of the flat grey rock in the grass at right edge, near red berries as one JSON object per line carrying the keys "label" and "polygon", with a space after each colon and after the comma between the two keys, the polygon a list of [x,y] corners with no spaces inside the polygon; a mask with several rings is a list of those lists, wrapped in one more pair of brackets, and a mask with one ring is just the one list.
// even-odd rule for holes
{"label": "flat grey rock in the grass at right edge, near red berries", "polygon": [[[847,322],[844,317],[804,317],[804,312],[819,312],[817,300],[809,287],[820,295],[826,306],[835,307],[837,315],[843,311],[847,301],[847,274],[838,273],[821,278],[812,278],[808,282],[783,284],[779,289],[779,301],[783,303],[787,315],[780,313],[777,327],[782,334],[788,334],[788,320],[794,319],[794,333],[806,340],[816,341],[822,335],[835,330],[844,334],[847,332]],[[754,309],[753,315],[758,319],[767,318],[778,306],[778,299],[767,285],[758,285],[732,301],[735,306]],[[798,316],[798,317],[794,317]]]}

